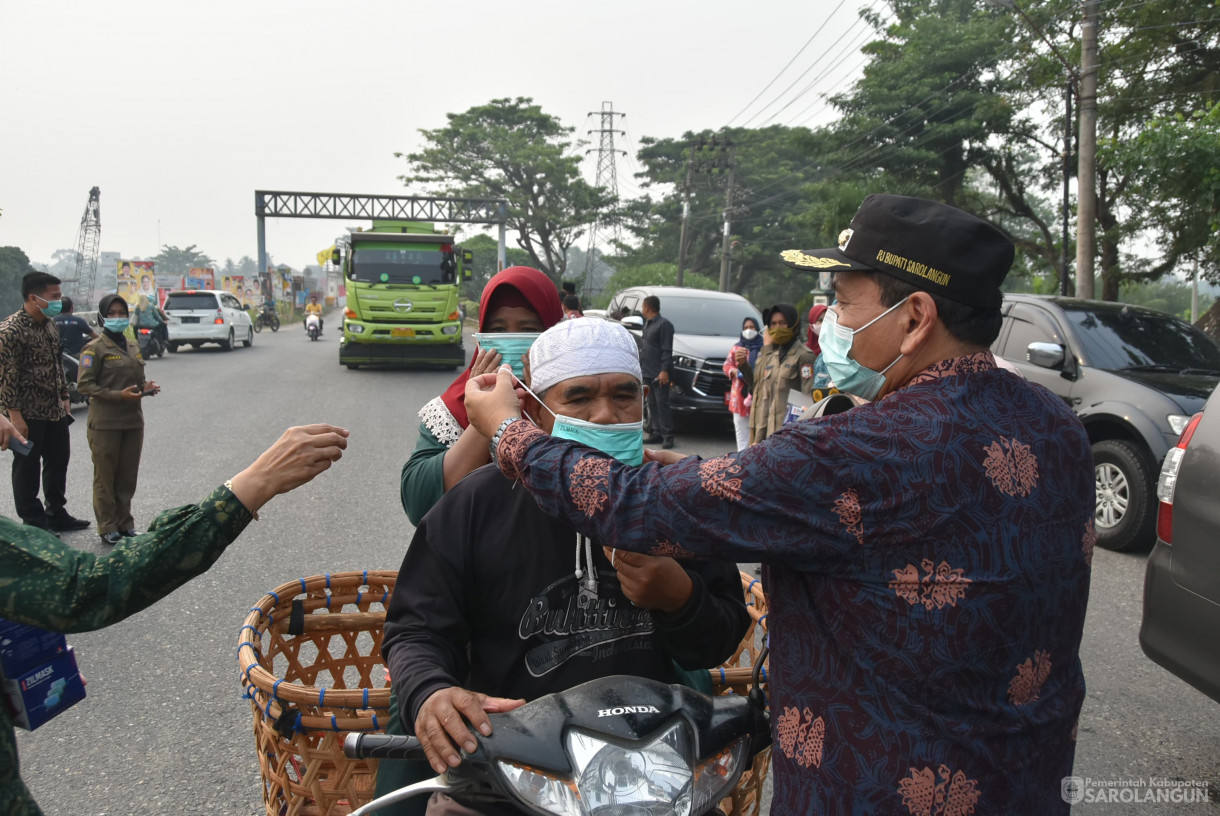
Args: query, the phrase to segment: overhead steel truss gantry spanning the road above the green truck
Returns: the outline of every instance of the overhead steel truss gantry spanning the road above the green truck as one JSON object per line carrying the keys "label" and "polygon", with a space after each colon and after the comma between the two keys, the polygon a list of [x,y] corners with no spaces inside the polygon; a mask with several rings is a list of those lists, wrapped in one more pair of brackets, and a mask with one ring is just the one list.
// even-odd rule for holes
{"label": "overhead steel truss gantry spanning the road above the green truck", "polygon": [[414,195],[255,190],[254,215],[259,218],[260,278],[267,271],[267,218],[393,218],[499,224],[495,260],[501,270],[506,262],[504,233],[509,218],[509,204],[504,199],[431,199]]}

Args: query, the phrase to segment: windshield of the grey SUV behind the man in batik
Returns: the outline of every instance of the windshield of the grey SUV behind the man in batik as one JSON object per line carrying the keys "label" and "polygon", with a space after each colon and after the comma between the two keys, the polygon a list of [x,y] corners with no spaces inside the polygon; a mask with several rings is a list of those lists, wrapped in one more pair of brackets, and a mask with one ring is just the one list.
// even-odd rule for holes
{"label": "windshield of the grey SUV behind the man in batik", "polygon": [[1142,309],[1070,309],[1069,320],[1098,368],[1220,371],[1220,346],[1186,321]]}

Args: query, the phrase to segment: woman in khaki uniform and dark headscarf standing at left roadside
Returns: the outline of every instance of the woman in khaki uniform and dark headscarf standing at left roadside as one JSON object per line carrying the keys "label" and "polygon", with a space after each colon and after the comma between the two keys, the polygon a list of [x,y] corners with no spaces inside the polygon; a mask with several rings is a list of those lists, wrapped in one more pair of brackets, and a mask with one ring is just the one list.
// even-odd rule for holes
{"label": "woman in khaki uniform and dark headscarf standing at left roadside", "polygon": [[160,392],[144,379],[139,346],[123,335],[127,301],[106,295],[98,305],[101,337],[81,350],[77,390],[89,401],[89,450],[93,453],[93,514],[106,544],[135,535],[132,496],[144,449],[140,400]]}

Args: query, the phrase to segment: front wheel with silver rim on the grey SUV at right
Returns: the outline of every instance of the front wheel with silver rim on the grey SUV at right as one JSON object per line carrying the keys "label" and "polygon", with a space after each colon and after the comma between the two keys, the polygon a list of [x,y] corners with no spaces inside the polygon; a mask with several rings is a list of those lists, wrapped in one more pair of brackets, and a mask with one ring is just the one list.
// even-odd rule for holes
{"label": "front wheel with silver rim on the grey SUV at right", "polygon": [[1122,439],[1093,445],[1097,545],[1126,553],[1153,543],[1157,526],[1157,477],[1139,448]]}

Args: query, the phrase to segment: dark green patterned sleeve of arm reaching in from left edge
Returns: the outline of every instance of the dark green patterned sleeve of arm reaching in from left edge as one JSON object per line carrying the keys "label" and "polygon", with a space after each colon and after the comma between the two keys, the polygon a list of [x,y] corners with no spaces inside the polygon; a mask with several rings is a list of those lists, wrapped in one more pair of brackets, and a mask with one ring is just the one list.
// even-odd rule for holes
{"label": "dark green patterned sleeve of arm reaching in from left edge", "polygon": [[228,488],[217,488],[100,556],[0,518],[0,617],[55,632],[110,626],[206,572],[251,518]]}

